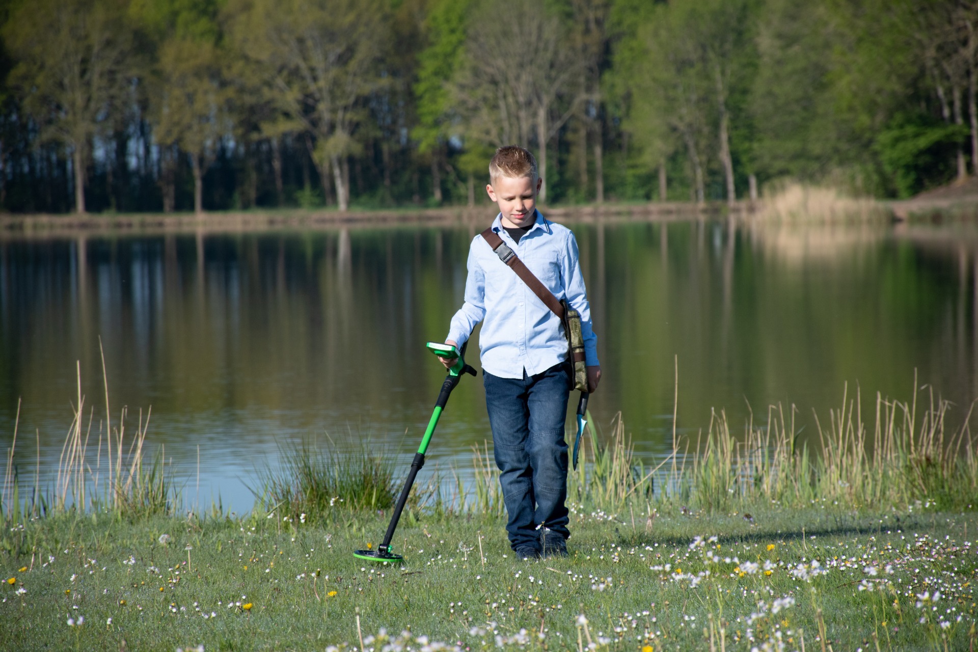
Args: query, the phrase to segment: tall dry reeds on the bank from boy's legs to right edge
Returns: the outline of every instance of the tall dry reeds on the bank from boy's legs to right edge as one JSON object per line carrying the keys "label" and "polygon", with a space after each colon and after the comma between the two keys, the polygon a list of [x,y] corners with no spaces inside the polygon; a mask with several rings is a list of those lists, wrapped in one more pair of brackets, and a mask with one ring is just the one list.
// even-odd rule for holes
{"label": "tall dry reeds on the bank from boy's legs to right edge", "polygon": [[[653,500],[712,511],[758,502],[803,506],[819,501],[855,508],[907,506],[917,500],[941,507],[975,504],[978,459],[971,409],[951,430],[951,404],[932,392],[925,409],[918,407],[916,393],[909,403],[877,393],[869,427],[861,399],[859,391],[850,397],[846,386],[841,405],[829,411],[824,425],[816,414],[814,446],[803,441],[794,406],[787,411],[769,407],[764,424],[756,424],[751,415],[739,436],[731,432],[726,413],[713,412],[705,435],[677,438],[672,452],[653,468],[635,455],[618,413],[607,437],[589,426],[577,470],[568,472],[568,500],[609,512]],[[491,460],[487,443],[473,447],[475,491],[467,507],[499,514],[503,498]]]}

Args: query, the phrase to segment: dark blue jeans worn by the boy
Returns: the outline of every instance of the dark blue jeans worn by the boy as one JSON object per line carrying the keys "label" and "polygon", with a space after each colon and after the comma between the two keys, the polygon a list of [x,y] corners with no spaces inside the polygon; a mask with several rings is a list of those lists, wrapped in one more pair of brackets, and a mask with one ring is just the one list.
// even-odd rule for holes
{"label": "dark blue jeans worn by the boy", "polygon": [[[483,371],[496,465],[510,520],[510,545],[540,550],[541,524],[564,539],[570,378],[561,363],[536,375],[500,378]],[[552,536],[552,535],[551,535]]]}

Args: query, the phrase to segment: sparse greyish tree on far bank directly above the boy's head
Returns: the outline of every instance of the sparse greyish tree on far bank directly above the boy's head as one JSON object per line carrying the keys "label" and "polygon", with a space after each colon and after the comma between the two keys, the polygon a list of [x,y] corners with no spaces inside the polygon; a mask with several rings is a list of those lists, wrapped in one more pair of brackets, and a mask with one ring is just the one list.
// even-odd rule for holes
{"label": "sparse greyish tree on far bank directly above the boy's head", "polygon": [[483,2],[471,15],[466,64],[454,80],[467,135],[497,147],[527,147],[535,137],[542,201],[547,145],[581,99],[571,90],[581,65],[543,0]]}

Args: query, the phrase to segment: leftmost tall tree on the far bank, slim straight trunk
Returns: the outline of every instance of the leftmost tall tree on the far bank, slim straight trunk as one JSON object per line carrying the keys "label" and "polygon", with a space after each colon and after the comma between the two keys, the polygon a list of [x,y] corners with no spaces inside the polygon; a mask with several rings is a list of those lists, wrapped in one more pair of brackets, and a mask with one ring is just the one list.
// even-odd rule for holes
{"label": "leftmost tall tree on the far bank, slim straight trunk", "polygon": [[78,213],[93,140],[125,97],[132,41],[123,7],[122,0],[33,0],[3,28],[18,62],[11,84],[41,125],[40,140],[71,153]]}

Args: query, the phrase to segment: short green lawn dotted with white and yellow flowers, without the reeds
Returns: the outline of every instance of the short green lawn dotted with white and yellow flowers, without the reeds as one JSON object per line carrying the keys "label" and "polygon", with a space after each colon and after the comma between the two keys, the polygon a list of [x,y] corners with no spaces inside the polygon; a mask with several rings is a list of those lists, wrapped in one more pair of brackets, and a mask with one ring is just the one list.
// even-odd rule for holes
{"label": "short green lawn dotted with white and yellow flowers, without the reeds", "polygon": [[537,562],[513,559],[498,518],[422,517],[401,526],[408,563],[393,568],[350,554],[386,524],[365,512],[329,525],[260,512],[60,514],[23,524],[20,551],[0,560],[3,579],[13,578],[0,587],[0,646],[323,650],[360,648],[362,635],[379,652],[381,632],[402,630],[414,649],[424,649],[421,636],[469,650],[975,642],[974,513],[820,505],[756,510],[749,521],[636,516],[575,513],[570,556]]}

